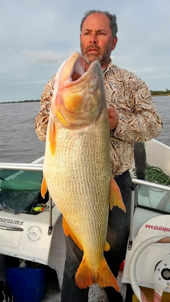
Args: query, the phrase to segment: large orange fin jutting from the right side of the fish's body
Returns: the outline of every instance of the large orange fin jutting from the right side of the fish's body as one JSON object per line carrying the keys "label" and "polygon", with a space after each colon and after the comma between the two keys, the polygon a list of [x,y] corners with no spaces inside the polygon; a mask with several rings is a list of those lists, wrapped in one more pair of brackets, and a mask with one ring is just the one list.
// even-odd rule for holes
{"label": "large orange fin jutting from the right side of the fish's body", "polygon": [[125,205],[123,204],[120,189],[113,177],[111,178],[111,192],[110,192],[109,202],[110,202],[111,210],[113,206],[117,206],[126,213],[126,208]]}

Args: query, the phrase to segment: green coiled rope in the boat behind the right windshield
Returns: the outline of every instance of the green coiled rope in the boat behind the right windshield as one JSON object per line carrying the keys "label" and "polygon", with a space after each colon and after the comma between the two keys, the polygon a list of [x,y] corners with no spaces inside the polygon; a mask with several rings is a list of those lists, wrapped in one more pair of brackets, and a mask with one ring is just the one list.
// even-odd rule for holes
{"label": "green coiled rope in the boat behind the right windshield", "polygon": [[146,176],[145,179],[148,182],[156,182],[160,185],[169,186],[170,178],[166,175],[160,168],[150,166],[147,164],[146,166]]}

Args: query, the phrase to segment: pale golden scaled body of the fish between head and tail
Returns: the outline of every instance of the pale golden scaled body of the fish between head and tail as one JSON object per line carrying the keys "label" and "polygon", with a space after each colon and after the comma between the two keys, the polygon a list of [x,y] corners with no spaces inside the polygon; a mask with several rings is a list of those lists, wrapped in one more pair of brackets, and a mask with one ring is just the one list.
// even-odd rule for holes
{"label": "pale golden scaled body of the fish between head and tail", "polygon": [[[96,259],[95,251],[101,238],[102,251],[106,239],[111,173],[107,169],[110,164],[109,144],[103,141],[106,137],[109,138],[108,129],[106,110],[94,127],[91,125],[83,130],[74,130],[73,135],[70,133],[72,130],[59,129],[56,135],[56,146],[58,146],[56,153],[47,163],[51,180],[47,182],[47,187],[53,192],[52,198],[57,200],[57,207],[69,225],[76,230],[79,229],[77,233],[79,238],[83,236],[87,254],[88,248],[90,253],[93,249],[94,256],[91,257],[93,263],[101,261],[102,253]],[[96,144],[96,137],[98,144]],[[109,139],[107,141],[109,142]],[[46,146],[50,153],[50,142],[48,144],[46,142]],[[83,152],[84,150],[86,152]],[[46,170],[45,160],[44,169]],[[44,176],[47,179],[49,177],[45,174]],[[103,230],[100,225],[104,225]]]}

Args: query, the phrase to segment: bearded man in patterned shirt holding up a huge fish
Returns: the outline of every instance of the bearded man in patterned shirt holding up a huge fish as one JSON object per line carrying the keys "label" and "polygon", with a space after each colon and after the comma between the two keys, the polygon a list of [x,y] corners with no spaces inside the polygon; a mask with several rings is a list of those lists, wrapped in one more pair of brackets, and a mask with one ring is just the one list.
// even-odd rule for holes
{"label": "bearded man in patterned shirt holding up a huge fish", "polygon": [[[135,141],[150,140],[161,132],[162,122],[152,103],[146,84],[132,72],[112,65],[110,55],[117,44],[116,16],[109,12],[87,11],[81,22],[80,47],[85,70],[98,60],[104,77],[110,124],[110,158],[114,179],[120,188],[126,214],[118,207],[109,211],[107,242],[110,251],[104,257],[117,277],[119,266],[125,258],[130,225],[131,178]],[[45,86],[41,96],[41,111],[36,117],[37,136],[45,141],[55,76]],[[61,301],[88,301],[89,288],[79,289],[75,273],[83,252],[70,236],[66,237],[66,263]],[[123,301],[121,294],[112,287],[105,291],[109,301]]]}

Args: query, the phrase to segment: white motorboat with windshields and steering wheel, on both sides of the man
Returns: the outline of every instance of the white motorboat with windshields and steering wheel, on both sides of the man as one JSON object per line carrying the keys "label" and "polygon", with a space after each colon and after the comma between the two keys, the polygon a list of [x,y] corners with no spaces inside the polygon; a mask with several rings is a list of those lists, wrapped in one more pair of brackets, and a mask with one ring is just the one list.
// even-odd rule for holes
{"label": "white motorboat with windshields and steering wheel, on both sides of the man", "polygon": [[[147,163],[170,176],[170,147],[151,140],[145,143],[145,148]],[[8,188],[23,183],[27,188],[27,180],[33,186],[36,173],[42,177],[43,159],[30,164],[0,163],[0,188],[4,188],[4,184]],[[8,175],[4,178],[2,172],[5,171]],[[136,297],[142,301],[139,286],[155,288],[160,296],[164,289],[170,292],[170,243],[155,243],[161,238],[168,237],[167,241],[170,238],[170,187],[138,180],[133,170],[130,172],[130,237],[121,282],[131,284]],[[40,188],[40,180],[35,187]],[[0,254],[48,265],[56,270],[61,289],[66,253],[62,215],[50,197],[46,205],[48,211],[37,215],[0,210]],[[121,288],[125,299],[126,286]]]}

